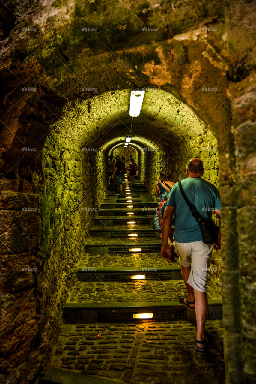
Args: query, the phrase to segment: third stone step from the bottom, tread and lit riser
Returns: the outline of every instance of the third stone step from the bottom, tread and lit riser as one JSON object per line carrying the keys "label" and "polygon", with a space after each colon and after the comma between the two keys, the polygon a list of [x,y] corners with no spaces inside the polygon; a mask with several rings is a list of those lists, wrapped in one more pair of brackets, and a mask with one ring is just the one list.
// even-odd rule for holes
{"label": "third stone step from the bottom, tread and lit riser", "polygon": [[143,239],[138,238],[130,238],[129,242],[122,239],[114,239],[109,238],[109,240],[105,238],[89,238],[86,240],[86,244],[84,244],[84,250],[89,255],[110,255],[110,254],[137,254],[140,253],[159,253],[162,247],[162,240],[158,239],[147,239],[147,242]]}

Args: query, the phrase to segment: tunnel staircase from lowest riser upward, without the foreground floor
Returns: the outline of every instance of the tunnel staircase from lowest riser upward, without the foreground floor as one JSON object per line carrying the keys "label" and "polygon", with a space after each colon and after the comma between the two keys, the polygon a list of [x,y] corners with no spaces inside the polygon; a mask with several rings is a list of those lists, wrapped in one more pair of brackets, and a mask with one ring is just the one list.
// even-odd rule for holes
{"label": "tunnel staircase from lowest riser upward, without the foreground floor", "polygon": [[[187,320],[194,312],[178,303],[185,289],[178,256],[160,257],[162,240],[153,230],[157,204],[127,175],[124,194],[109,190],[84,245],[78,281],[64,308],[66,323]],[[208,288],[208,319],[221,318],[221,299]]]}

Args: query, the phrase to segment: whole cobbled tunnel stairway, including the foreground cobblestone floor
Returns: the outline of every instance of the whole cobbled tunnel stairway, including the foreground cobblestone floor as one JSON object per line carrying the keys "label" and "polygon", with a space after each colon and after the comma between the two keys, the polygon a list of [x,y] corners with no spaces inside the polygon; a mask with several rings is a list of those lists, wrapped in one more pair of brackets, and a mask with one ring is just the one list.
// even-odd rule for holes
{"label": "whole cobbled tunnel stairway, including the foreground cobblestone floor", "polygon": [[221,384],[220,296],[208,289],[212,352],[198,354],[195,314],[178,303],[178,257],[160,257],[152,229],[157,204],[139,179],[133,187],[125,179],[124,194],[109,190],[94,219],[41,384]]}

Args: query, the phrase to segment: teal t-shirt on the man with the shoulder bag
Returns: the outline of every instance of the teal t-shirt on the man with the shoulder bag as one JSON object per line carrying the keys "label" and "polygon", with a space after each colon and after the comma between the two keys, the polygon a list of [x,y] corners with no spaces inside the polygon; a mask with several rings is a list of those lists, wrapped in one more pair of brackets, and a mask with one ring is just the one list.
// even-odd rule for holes
{"label": "teal t-shirt on the man with the shoulder bag", "polygon": [[[220,194],[216,187],[206,180],[188,177],[182,180],[182,188],[188,200],[197,209],[201,218],[211,218],[214,209],[220,209]],[[167,205],[176,210],[174,240],[177,243],[190,243],[202,240],[197,220],[185,202],[178,183],[175,183],[169,194]]]}

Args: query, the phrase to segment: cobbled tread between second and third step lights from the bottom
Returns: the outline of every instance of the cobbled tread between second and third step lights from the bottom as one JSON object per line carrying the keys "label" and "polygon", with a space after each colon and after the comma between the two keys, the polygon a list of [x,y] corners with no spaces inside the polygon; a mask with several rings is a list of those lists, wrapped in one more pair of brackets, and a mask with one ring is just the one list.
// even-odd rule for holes
{"label": "cobbled tread between second and third step lights from the bottom", "polygon": [[115,255],[83,255],[77,267],[96,267],[96,268],[140,268],[140,267],[167,267],[180,268],[178,257],[173,257],[171,262],[167,262],[155,253],[130,253]]}

